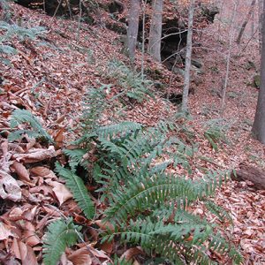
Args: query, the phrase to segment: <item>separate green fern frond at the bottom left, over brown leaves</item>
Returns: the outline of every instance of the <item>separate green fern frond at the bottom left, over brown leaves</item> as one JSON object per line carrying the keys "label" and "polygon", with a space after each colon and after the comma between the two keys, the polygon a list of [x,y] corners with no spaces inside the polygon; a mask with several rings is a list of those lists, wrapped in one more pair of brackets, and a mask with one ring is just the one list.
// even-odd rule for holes
{"label": "separate green fern frond at the bottom left, over brown leaves", "polygon": [[43,261],[45,265],[57,265],[66,247],[73,246],[78,241],[81,227],[68,220],[57,220],[50,223],[45,234],[43,245]]}

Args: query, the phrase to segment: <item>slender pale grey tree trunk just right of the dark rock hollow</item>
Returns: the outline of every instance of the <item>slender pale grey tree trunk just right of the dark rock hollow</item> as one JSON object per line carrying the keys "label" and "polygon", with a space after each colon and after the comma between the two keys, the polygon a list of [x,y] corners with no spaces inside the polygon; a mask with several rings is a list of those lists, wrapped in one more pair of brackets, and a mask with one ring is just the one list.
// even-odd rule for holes
{"label": "slender pale grey tree trunk just right of the dark rock hollow", "polygon": [[192,64],[192,52],[193,52],[193,13],[194,13],[194,0],[191,0],[189,10],[189,21],[188,21],[188,34],[186,41],[186,61],[185,61],[185,79],[183,87],[182,97],[182,111],[187,111],[188,95],[190,87],[190,72]]}

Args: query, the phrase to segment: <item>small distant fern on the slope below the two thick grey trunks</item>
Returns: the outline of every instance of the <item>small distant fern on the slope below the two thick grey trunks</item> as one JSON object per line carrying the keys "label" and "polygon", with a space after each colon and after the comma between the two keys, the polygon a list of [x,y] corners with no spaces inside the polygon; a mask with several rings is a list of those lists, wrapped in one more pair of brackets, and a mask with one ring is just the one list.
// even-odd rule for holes
{"label": "small distant fern on the slope below the two thick grey trunks", "polygon": [[153,81],[142,79],[140,73],[133,72],[123,62],[110,61],[108,76],[117,79],[117,83],[123,89],[122,94],[136,102],[142,102],[147,99],[147,95],[153,96],[151,92]]}

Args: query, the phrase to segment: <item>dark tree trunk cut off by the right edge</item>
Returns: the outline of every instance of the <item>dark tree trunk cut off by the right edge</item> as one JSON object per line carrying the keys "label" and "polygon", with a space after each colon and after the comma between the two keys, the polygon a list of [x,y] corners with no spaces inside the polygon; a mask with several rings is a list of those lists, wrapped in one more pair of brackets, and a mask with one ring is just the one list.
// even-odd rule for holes
{"label": "dark tree trunk cut off by the right edge", "polygon": [[261,48],[261,88],[259,92],[254,125],[252,132],[254,138],[265,144],[265,0],[263,2],[262,15],[262,48]]}

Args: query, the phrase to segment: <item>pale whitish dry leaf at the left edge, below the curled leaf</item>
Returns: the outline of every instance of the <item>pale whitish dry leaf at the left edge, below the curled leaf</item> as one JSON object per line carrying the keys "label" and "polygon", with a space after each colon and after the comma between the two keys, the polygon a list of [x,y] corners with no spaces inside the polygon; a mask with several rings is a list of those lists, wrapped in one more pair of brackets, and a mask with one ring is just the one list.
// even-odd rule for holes
{"label": "pale whitish dry leaf at the left edge, below the curled leaf", "polygon": [[19,201],[22,197],[18,182],[4,170],[0,170],[0,196],[11,201]]}

